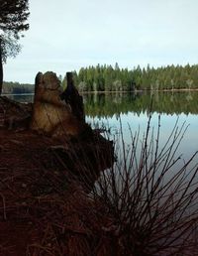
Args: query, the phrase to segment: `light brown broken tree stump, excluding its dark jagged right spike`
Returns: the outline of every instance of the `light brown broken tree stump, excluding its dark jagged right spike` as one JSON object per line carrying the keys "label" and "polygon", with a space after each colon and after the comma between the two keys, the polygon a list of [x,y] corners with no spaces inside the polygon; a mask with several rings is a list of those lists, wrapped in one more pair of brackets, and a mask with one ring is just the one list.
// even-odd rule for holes
{"label": "light brown broken tree stump, excluding its dark jagged right spike", "polygon": [[35,82],[35,100],[31,129],[53,137],[77,136],[84,123],[73,115],[69,104],[60,99],[62,89],[54,72],[39,72]]}

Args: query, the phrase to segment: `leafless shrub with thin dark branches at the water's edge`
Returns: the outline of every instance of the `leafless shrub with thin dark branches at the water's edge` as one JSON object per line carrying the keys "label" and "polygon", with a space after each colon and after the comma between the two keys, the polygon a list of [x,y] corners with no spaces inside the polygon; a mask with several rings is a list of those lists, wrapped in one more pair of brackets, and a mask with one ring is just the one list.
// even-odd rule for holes
{"label": "leafless shrub with thin dark branches at the water's edge", "polygon": [[[186,131],[178,120],[167,141],[160,143],[160,116],[154,135],[151,115],[142,142],[131,133],[131,146],[121,143],[118,161],[101,174],[92,196],[111,222],[103,227],[114,237],[117,255],[198,255],[197,152],[187,161],[177,154]],[[116,242],[115,242],[116,241]]]}

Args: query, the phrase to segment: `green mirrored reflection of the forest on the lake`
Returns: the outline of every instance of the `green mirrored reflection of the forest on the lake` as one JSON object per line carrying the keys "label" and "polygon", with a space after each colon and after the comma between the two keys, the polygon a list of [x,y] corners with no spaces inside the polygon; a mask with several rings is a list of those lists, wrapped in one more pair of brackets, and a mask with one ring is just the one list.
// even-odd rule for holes
{"label": "green mirrored reflection of the forest on the lake", "polygon": [[[160,92],[152,95],[152,111],[166,114],[197,114],[198,92]],[[112,117],[114,114],[148,112],[151,101],[149,93],[111,93],[84,95],[87,115]]]}

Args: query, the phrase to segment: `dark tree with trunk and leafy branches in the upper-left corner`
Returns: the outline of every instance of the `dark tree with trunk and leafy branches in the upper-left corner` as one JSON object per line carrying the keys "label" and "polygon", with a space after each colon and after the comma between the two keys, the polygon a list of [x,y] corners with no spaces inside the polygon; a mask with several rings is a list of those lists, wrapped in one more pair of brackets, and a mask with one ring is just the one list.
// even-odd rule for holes
{"label": "dark tree with trunk and leafy branches in the upper-left corner", "polygon": [[0,93],[3,83],[3,63],[20,52],[20,33],[29,29],[28,0],[0,0]]}

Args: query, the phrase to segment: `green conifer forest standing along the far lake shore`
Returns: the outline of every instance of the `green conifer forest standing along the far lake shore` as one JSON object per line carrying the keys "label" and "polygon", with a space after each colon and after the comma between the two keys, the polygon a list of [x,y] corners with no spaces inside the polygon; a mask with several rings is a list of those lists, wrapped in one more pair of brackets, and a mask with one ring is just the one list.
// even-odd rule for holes
{"label": "green conifer forest standing along the far lake shore", "polygon": [[[164,89],[197,89],[198,64],[167,65],[153,68],[140,65],[130,70],[118,64],[81,67],[73,71],[74,82],[79,91],[135,91]],[[66,87],[66,78],[61,80]],[[33,93],[33,84],[4,82],[3,93]]]}

